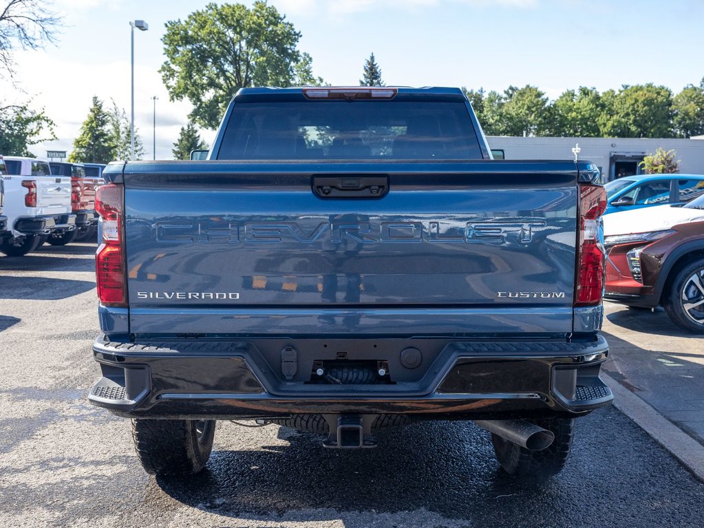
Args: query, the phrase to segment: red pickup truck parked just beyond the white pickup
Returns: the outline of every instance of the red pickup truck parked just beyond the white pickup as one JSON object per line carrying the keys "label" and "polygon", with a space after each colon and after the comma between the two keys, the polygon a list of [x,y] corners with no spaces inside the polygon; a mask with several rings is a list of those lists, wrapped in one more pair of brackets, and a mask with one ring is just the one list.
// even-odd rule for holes
{"label": "red pickup truck parked just beyond the white pickup", "polygon": [[69,176],[71,179],[71,208],[76,215],[75,231],[51,234],[47,242],[65,245],[73,240],[86,240],[95,236],[98,214],[95,212],[95,189],[103,179],[89,178],[81,163],[50,162],[51,174]]}

